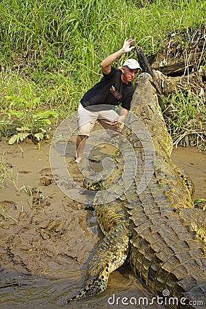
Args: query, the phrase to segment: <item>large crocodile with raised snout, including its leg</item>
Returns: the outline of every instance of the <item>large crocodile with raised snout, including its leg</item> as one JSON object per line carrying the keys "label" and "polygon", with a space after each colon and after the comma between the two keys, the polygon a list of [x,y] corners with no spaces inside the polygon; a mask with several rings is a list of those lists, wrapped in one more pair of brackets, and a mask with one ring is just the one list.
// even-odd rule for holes
{"label": "large crocodile with raised snout, including its leg", "polygon": [[[106,203],[105,198],[102,203],[100,192],[96,194],[95,210],[105,237],[89,262],[84,287],[69,301],[104,291],[108,275],[128,257],[135,274],[155,295],[167,291],[172,297],[170,306],[185,308],[187,304],[187,308],[198,308],[198,305],[203,308],[206,304],[205,213],[194,208],[192,183],[170,159],[172,138],[151,76],[141,73],[136,83],[131,112],[139,121],[137,117],[128,117],[130,126],[124,133],[135,150],[135,176],[131,164],[128,177],[133,175],[133,182],[115,201]],[[152,136],[155,152],[146,152],[143,147],[141,123]],[[139,137],[134,134],[137,130]],[[108,192],[113,183],[122,179],[121,160],[120,157],[116,172],[104,181]],[[147,168],[152,176],[146,180],[144,190],[139,190],[146,160],[151,163]],[[192,231],[194,225],[196,231]]]}

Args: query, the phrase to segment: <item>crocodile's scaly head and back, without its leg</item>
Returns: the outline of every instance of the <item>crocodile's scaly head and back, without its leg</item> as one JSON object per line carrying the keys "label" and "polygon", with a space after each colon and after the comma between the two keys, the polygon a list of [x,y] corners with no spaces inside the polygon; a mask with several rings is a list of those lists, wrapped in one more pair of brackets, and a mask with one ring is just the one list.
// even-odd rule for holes
{"label": "crocodile's scaly head and back, without its leg", "polygon": [[[137,84],[133,111],[139,112],[150,131],[156,154],[154,175],[144,192],[134,198],[135,194],[131,194],[131,190],[135,192],[133,183],[133,188],[130,187],[126,194],[126,199],[130,197],[126,201],[128,213],[135,225],[130,241],[131,266],[156,295],[167,289],[178,299],[184,295],[191,301],[205,301],[205,244],[196,238],[195,232],[189,231],[190,222],[184,226],[182,220],[184,209],[189,213],[191,210],[191,214],[194,210],[190,186],[183,181],[181,170],[170,159],[170,135],[162,116],[157,115],[159,106],[151,100],[147,103],[148,95],[141,96],[142,89],[152,91],[152,87],[148,87],[148,78],[141,76]],[[141,155],[140,151],[140,161]],[[136,177],[138,179],[138,169]],[[205,218],[203,211],[198,210]]]}

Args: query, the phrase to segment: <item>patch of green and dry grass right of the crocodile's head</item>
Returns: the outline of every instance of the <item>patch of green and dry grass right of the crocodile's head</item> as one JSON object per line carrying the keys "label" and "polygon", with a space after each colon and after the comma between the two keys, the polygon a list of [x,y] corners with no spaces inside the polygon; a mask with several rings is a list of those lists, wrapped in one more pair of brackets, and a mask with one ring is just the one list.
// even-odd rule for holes
{"label": "patch of green and dry grass right of the crocodile's head", "polygon": [[[168,107],[167,107],[168,106]],[[205,147],[205,102],[190,91],[176,91],[165,98],[163,113],[174,145]]]}

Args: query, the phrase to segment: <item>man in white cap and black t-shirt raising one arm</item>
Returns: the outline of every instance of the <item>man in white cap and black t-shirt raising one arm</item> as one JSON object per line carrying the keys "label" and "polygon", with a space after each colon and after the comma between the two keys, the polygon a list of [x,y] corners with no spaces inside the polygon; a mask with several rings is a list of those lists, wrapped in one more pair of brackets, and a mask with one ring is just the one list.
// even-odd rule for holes
{"label": "man in white cap and black t-shirt raising one arm", "polygon": [[[114,54],[106,57],[102,63],[103,78],[89,89],[80,100],[78,108],[78,137],[76,140],[76,162],[80,163],[86,144],[95,121],[98,120],[106,130],[121,133],[123,122],[133,98],[135,88],[132,84],[141,67],[135,59],[124,62],[122,70],[111,65],[123,54],[130,52],[134,46],[133,38],[126,38],[124,45]],[[120,115],[114,111],[114,106],[121,104]],[[110,131],[108,131],[109,133]]]}

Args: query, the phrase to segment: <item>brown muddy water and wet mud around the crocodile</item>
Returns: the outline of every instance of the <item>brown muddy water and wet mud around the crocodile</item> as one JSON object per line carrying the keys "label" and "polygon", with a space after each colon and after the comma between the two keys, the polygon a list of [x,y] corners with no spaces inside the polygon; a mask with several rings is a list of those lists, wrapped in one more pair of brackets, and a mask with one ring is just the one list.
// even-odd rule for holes
{"label": "brown muddy water and wet mud around the crocodile", "polygon": [[[71,142],[66,164],[81,185],[74,148]],[[111,274],[101,295],[65,305],[82,286],[102,233],[92,207],[73,201],[56,185],[49,149],[50,141],[40,149],[30,141],[10,146],[2,139],[0,143],[0,153],[14,176],[10,174],[0,189],[0,308],[167,308],[157,301],[149,304],[154,295],[129,266]],[[100,152],[105,157],[111,149]],[[206,156],[196,148],[174,148],[172,159],[194,182],[194,198],[206,198]],[[133,301],[126,305],[123,297]],[[139,297],[146,297],[148,305],[138,304]]]}

